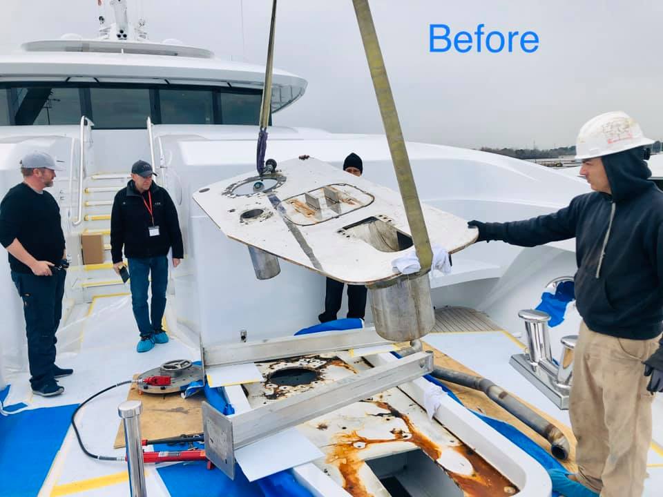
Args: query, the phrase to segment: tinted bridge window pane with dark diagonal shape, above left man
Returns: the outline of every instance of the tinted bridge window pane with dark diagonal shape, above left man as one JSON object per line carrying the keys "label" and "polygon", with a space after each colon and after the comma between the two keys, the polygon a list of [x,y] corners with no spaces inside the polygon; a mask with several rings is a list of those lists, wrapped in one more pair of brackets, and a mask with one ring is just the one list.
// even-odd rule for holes
{"label": "tinted bridge window pane with dark diagonal shape, above left man", "polygon": [[78,124],[81,101],[78,88],[26,86],[10,90],[15,124]]}

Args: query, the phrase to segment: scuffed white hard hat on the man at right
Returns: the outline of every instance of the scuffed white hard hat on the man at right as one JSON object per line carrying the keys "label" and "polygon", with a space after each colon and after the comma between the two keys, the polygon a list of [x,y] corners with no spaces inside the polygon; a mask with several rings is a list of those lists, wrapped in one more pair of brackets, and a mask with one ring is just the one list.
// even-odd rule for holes
{"label": "scuffed white hard hat on the man at right", "polygon": [[597,115],[580,128],[575,142],[575,158],[601,157],[653,142],[642,134],[635,119],[617,110]]}

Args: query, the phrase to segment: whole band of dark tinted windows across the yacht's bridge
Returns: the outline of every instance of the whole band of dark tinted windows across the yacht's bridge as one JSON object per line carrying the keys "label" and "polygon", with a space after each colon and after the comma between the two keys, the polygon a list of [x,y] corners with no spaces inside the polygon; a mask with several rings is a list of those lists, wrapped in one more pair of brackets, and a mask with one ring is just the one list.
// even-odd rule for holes
{"label": "whole band of dark tinted windows across the yacht's bridge", "polygon": [[[260,90],[216,86],[17,83],[0,86],[0,126],[78,124],[95,129],[154,124],[257,125]],[[271,121],[271,119],[270,119]]]}

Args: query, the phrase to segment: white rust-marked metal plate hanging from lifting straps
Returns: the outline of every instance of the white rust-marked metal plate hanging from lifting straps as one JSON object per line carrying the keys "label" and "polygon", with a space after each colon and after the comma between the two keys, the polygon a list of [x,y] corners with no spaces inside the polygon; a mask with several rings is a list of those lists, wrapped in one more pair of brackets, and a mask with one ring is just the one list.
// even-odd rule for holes
{"label": "white rust-marked metal plate hanging from lifting straps", "polygon": [[[410,227],[390,188],[313,157],[281,162],[273,179],[253,186],[258,181],[255,173],[239,175],[193,199],[229,238],[342,282],[392,280],[399,274],[392,261],[414,250],[401,250]],[[422,210],[432,244],[454,253],[476,239],[460,217]]]}

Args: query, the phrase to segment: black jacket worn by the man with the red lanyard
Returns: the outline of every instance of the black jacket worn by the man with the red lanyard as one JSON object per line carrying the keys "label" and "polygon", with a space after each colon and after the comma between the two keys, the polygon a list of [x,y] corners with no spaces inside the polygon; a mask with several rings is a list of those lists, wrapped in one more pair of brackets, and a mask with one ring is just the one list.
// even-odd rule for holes
{"label": "black jacket worn by the man with the red lanyard", "polygon": [[113,263],[122,261],[122,246],[126,257],[157,257],[167,255],[171,246],[173,257],[184,257],[182,232],[177,220],[177,210],[171,196],[164,188],[152,183],[154,224],[159,226],[159,235],[151,237],[148,228],[152,218],[143,199],[149,204],[148,193],[140,195],[133,180],[122,188],[113,200],[111,213],[111,255]]}

